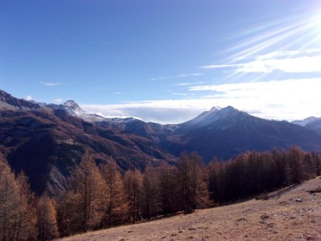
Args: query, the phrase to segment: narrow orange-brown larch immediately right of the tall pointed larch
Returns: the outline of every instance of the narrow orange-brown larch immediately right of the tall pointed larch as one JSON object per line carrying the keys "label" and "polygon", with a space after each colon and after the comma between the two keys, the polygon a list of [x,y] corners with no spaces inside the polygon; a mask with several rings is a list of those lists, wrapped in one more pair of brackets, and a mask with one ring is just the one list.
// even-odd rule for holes
{"label": "narrow orange-brown larch immediately right of the tall pointed larch", "polygon": [[128,209],[121,173],[118,171],[116,161],[111,158],[99,166],[101,175],[106,182],[106,193],[104,197],[105,215],[103,217],[103,226],[110,227],[116,225],[116,222],[123,222],[126,219]]}

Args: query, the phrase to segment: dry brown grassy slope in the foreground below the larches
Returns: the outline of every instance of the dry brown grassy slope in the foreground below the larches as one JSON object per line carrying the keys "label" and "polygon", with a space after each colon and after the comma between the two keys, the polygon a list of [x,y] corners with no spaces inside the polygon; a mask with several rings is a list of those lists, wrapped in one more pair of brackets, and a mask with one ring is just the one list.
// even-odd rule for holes
{"label": "dry brown grassy slope in the foreground below the larches", "polygon": [[[269,200],[197,210],[136,225],[63,239],[73,240],[321,240],[321,185],[315,178],[271,193]],[[301,202],[297,202],[300,199]]]}

